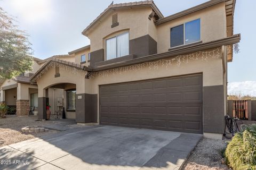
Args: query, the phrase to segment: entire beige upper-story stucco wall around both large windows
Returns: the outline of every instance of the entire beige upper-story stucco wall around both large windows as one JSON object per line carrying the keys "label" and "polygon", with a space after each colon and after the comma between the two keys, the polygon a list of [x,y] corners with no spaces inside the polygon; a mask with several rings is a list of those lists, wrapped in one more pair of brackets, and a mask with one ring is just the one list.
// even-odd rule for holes
{"label": "entire beige upper-story stucco wall around both large windows", "polygon": [[[130,40],[149,34],[157,41],[157,52],[167,52],[170,48],[170,29],[195,19],[201,19],[203,43],[227,37],[225,3],[219,3],[157,26],[154,24],[154,18],[148,19],[151,11],[150,7],[141,7],[108,12],[87,34],[91,40],[91,52],[104,49],[106,37],[125,29],[129,30]],[[115,13],[118,14],[119,25],[111,28],[111,16]]]}

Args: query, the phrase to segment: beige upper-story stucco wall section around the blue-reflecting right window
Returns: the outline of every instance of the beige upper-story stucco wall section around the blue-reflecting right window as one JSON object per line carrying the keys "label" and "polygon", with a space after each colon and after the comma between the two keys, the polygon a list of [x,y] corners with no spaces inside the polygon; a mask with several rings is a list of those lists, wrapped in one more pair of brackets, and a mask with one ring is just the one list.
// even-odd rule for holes
{"label": "beige upper-story stucco wall section around the blue-reflecting right window", "polygon": [[201,20],[201,40],[203,43],[227,37],[225,3],[220,3],[158,25],[157,53],[166,52],[170,48],[170,33],[172,27],[196,19]]}

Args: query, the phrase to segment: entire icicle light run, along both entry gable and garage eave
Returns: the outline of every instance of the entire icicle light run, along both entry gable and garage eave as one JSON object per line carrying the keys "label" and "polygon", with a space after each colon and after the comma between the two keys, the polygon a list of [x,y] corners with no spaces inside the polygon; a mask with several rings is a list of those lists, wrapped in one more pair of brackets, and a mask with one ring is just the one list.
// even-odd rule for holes
{"label": "entire icicle light run, along both entry gable and garage eave", "polygon": [[31,83],[35,83],[39,78],[42,77],[44,73],[46,73],[50,68],[59,66],[63,69],[65,69],[68,72],[71,72],[72,74],[79,74],[83,78],[94,78],[97,76],[106,77],[109,75],[115,75],[115,74],[122,74],[126,72],[137,72],[142,70],[143,68],[148,68],[149,70],[158,70],[159,67],[165,67],[166,70],[169,69],[173,65],[180,66],[182,63],[189,63],[190,60],[201,60],[201,61],[207,61],[209,58],[219,58],[221,57],[221,47],[215,48],[210,51],[198,51],[195,53],[190,53],[187,55],[178,55],[175,57],[170,58],[164,58],[153,62],[145,62],[140,64],[133,64],[129,66],[122,66],[117,67],[115,69],[109,69],[109,70],[103,70],[99,72],[88,72],[86,74],[86,71],[82,69],[77,69],[76,67],[71,67],[62,63],[58,62],[50,62],[46,67],[33,79]]}

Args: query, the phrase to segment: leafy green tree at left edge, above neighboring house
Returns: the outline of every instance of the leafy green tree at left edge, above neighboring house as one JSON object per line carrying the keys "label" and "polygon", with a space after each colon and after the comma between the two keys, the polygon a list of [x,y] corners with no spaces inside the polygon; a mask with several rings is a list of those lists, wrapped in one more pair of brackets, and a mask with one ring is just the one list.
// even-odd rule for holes
{"label": "leafy green tree at left edge, above neighboring house", "polygon": [[28,36],[0,7],[0,78],[11,79],[32,69]]}

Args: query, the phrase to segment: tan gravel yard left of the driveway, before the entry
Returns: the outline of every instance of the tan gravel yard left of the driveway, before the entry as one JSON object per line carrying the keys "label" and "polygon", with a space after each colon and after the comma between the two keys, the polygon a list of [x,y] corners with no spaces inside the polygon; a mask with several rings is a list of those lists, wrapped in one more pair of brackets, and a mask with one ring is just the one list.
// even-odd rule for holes
{"label": "tan gravel yard left of the driveway, before the entry", "polygon": [[46,124],[57,124],[58,121],[36,121],[37,116],[17,117],[6,115],[6,118],[0,118],[0,147],[23,140],[42,137],[46,134],[58,133],[59,131],[49,130],[48,132],[25,134],[21,128],[26,126],[43,126]]}

